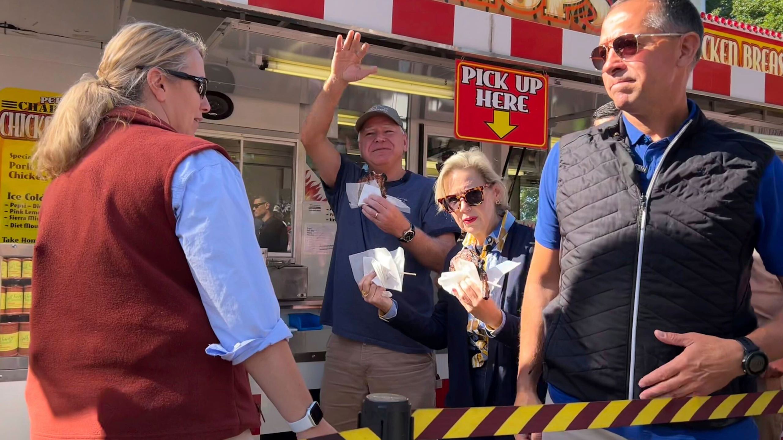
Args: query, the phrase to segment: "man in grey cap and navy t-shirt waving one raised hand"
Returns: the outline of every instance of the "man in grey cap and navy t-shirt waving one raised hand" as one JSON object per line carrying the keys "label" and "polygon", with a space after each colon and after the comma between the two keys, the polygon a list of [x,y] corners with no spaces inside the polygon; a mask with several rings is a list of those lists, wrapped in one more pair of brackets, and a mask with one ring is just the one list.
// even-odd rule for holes
{"label": "man in grey cap and navy t-shirt waving one raised hand", "polygon": [[[363,171],[327,139],[337,103],[352,81],[375,69],[361,65],[369,45],[353,31],[337,37],[331,74],[301,129],[301,141],[316,164],[327,199],[337,221],[334,251],[329,266],[321,322],[332,326],[327,344],[321,399],[323,411],[339,430],[356,427],[364,397],[373,392],[405,395],[413,408],[435,405],[435,358],[430,348],[395,330],[377,317],[362,300],[348,255],[377,247],[402,247],[405,271],[404,298],[417,312],[433,308],[431,271],[440,271],[446,254],[456,243],[460,228],[449,215],[438,213],[433,179],[402,168],[408,139],[399,114],[388,106],[373,106],[356,121],[359,151],[368,165]],[[372,195],[366,204],[352,208],[348,186],[360,179],[375,179],[388,193],[410,207],[403,214],[387,198]]]}

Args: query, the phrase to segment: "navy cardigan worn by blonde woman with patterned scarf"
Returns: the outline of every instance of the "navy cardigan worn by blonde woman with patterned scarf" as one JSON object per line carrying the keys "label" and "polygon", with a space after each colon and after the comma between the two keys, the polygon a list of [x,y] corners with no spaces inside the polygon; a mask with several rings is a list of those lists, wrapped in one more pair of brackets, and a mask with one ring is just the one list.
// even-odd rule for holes
{"label": "navy cardigan worn by blonde woman with patterned scarf", "polygon": [[[483,402],[474,402],[471,383],[471,348],[467,334],[467,311],[452,294],[438,290],[438,303],[431,316],[423,316],[403,301],[397,301],[397,316],[389,320],[391,326],[419,341],[433,350],[449,348],[449,394],[446,406],[450,408],[467,406],[514,405],[516,398],[517,366],[519,357],[519,314],[522,293],[532,258],[533,230],[521,223],[514,223],[508,231],[501,255],[520,265],[503,279],[501,308],[506,323],[496,337],[489,339],[489,355],[485,364],[489,369],[485,375]],[[446,257],[444,271],[449,270],[449,261],[463,249],[459,243]],[[545,388],[539,386],[539,394]],[[539,396],[542,398],[543,395]]]}

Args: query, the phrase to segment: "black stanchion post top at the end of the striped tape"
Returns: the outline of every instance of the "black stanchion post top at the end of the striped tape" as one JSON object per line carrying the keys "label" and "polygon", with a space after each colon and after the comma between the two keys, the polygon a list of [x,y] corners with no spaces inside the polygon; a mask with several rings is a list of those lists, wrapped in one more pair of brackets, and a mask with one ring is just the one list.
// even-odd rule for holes
{"label": "black stanchion post top at the end of the striped tape", "polygon": [[371,394],[362,404],[359,427],[369,427],[381,440],[413,440],[413,418],[408,398]]}

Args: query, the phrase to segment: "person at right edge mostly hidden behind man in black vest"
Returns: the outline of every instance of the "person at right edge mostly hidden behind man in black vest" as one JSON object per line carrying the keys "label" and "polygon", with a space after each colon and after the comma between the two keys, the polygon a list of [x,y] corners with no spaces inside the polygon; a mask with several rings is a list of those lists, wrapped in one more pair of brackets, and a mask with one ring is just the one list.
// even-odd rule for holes
{"label": "person at right edge mostly hidden behind man in black vest", "polygon": [[[753,267],[750,271],[750,304],[759,325],[769,323],[783,312],[783,283],[778,276],[764,268],[758,252],[753,252]],[[767,372],[759,377],[759,391],[774,391],[783,388],[783,359],[770,362]],[[783,414],[756,416],[760,440],[780,440],[783,434]]]}

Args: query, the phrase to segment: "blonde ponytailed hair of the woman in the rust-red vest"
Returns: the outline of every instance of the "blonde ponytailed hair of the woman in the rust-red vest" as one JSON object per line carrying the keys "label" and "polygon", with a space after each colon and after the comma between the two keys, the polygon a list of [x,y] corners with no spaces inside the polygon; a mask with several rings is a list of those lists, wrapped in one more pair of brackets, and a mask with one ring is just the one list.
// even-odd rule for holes
{"label": "blonde ponytailed hair of the woman in the rust-red vest", "polygon": [[106,45],[96,75],[85,74],[63,95],[35,146],[31,160],[34,170],[50,179],[68,171],[90,145],[110,110],[143,106],[143,88],[150,68],[181,70],[193,49],[205,55],[204,43],[186,31],[144,22],[122,27]]}

